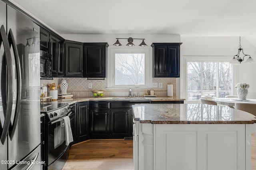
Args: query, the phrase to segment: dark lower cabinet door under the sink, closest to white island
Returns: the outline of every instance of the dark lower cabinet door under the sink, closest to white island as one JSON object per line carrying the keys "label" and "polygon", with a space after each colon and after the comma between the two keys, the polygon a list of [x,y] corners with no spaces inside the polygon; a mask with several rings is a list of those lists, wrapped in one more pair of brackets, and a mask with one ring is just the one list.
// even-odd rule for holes
{"label": "dark lower cabinet door under the sink, closest to white island", "polygon": [[132,137],[130,131],[130,109],[110,110],[110,135],[118,138]]}

